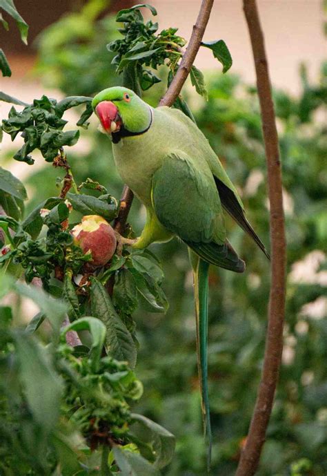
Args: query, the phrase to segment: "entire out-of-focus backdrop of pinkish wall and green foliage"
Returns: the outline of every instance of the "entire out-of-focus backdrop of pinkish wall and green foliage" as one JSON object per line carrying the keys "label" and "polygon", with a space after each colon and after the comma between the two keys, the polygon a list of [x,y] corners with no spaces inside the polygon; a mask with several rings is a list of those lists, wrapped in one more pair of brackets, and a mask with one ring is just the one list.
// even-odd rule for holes
{"label": "entire out-of-focus backdrop of pinkish wall and green foliage", "polygon": [[[324,5],[320,0],[259,0],[273,82],[284,173],[288,239],[288,289],[283,365],[259,476],[327,474],[327,63]],[[119,37],[113,12],[132,1],[16,0],[30,24],[24,46],[14,23],[0,41],[12,66],[1,91],[32,102],[43,93],[94,95],[120,82],[106,44]],[[156,0],[159,30],[179,27],[186,39],[199,1]],[[145,15],[148,15],[145,12]],[[195,64],[204,71],[206,102],[186,85],[197,124],[226,166],[244,201],[248,218],[268,245],[266,166],[255,73],[241,0],[217,0],[205,39],[224,39],[233,58],[226,75],[200,50]],[[164,83],[145,95],[155,105]],[[0,104],[1,118],[10,106]],[[75,120],[73,113],[68,115]],[[76,122],[76,121],[75,121]],[[72,123],[75,128],[75,123]],[[78,182],[99,180],[119,197],[121,180],[110,142],[92,122],[68,159]],[[41,157],[34,166],[14,162],[17,151],[5,137],[1,166],[23,180],[30,211],[58,194],[58,172]],[[190,210],[191,213],[191,210]],[[130,222],[141,230],[144,211],[135,201]],[[213,268],[210,274],[209,377],[214,435],[212,474],[235,470],[248,430],[264,354],[269,265],[250,239],[228,219],[228,236],[247,263],[243,276]],[[177,437],[166,476],[204,476],[195,355],[192,276],[187,250],[177,240],[154,245],[164,264],[170,310],[164,316],[139,312],[141,343],[137,375],[144,385],[139,408]],[[31,310],[31,315],[33,314]]]}

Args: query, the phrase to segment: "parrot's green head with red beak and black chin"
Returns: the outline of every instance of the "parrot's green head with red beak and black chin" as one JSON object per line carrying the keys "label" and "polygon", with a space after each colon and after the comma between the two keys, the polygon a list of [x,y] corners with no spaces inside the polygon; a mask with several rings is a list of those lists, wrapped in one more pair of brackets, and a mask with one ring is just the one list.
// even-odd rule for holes
{"label": "parrot's green head with red beak and black chin", "polygon": [[152,109],[128,88],[116,86],[103,89],[92,100],[102,131],[117,143],[121,137],[140,135],[152,123]]}

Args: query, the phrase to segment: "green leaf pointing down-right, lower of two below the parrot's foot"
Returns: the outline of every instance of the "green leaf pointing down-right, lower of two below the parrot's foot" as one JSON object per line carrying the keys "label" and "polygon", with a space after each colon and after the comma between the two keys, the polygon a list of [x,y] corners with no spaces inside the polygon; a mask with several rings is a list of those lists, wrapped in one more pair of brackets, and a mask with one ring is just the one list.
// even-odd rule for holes
{"label": "green leaf pointing down-right, lower of two below the parrot's foot", "polygon": [[129,268],[135,279],[143,309],[149,312],[167,312],[168,301],[162,289],[150,276],[143,276],[137,269]]}

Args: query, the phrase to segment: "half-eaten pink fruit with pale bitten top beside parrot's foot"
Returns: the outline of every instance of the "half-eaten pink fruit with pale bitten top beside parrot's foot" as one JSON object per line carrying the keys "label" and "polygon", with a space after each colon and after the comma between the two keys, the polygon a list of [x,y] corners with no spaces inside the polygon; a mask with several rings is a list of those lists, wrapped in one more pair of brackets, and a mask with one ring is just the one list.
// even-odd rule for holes
{"label": "half-eaten pink fruit with pale bitten top beside parrot's foot", "polygon": [[[88,231],[88,224],[97,222],[97,229]],[[84,229],[83,229],[84,228]],[[94,227],[92,227],[94,228]],[[92,260],[89,262],[95,266],[103,266],[112,258],[117,247],[115,232],[104,218],[98,216],[84,216],[81,225],[72,229],[75,243],[81,247],[83,253],[91,251]]]}

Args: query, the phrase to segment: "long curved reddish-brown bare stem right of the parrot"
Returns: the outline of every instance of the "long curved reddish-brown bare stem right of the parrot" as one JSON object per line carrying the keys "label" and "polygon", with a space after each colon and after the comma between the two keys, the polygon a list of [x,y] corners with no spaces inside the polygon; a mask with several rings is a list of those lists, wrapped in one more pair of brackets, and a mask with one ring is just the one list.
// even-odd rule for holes
{"label": "long curved reddish-brown bare stem right of the parrot", "polygon": [[236,476],[252,476],[259,464],[261,448],[265,441],[283,349],[283,324],[286,294],[286,238],[281,188],[281,162],[275,124],[275,111],[270,89],[268,62],[264,47],[259,13],[255,0],[244,0],[244,13],[248,23],[257,88],[261,108],[262,128],[268,169],[268,196],[270,200],[271,286],[268,307],[268,331],[261,382],[257,401],[241,453]]}

